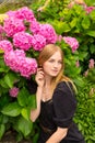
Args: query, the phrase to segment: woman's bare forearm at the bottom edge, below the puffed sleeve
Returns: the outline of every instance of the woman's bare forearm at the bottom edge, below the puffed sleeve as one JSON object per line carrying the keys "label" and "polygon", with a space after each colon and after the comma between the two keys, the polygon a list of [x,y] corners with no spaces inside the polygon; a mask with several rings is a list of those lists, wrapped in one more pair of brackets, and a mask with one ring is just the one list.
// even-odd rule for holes
{"label": "woman's bare forearm at the bottom edge, below the puffed sleeve", "polygon": [[60,143],[60,141],[66,138],[68,128],[58,128],[57,131],[47,140],[46,143]]}

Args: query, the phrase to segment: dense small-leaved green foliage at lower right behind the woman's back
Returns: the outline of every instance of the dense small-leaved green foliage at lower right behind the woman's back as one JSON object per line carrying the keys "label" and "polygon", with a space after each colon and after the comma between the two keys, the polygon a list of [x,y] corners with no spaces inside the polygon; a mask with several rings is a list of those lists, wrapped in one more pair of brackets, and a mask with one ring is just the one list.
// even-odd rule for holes
{"label": "dense small-leaved green foliage at lower right behind the woman's back", "polygon": [[[85,80],[85,79],[84,79]],[[74,121],[79,129],[85,136],[86,143],[95,142],[95,84],[85,80],[85,86],[79,91],[76,96],[79,101]]]}

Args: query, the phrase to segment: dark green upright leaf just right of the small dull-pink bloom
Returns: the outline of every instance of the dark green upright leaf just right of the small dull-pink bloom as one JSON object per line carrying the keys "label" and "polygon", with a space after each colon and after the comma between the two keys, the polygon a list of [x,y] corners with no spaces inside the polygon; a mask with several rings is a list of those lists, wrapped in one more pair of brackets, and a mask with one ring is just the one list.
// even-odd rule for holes
{"label": "dark green upright leaf just right of the small dull-pink bloom", "polygon": [[17,101],[21,107],[27,106],[28,96],[29,96],[29,94],[28,94],[27,89],[25,87],[23,87],[17,95]]}

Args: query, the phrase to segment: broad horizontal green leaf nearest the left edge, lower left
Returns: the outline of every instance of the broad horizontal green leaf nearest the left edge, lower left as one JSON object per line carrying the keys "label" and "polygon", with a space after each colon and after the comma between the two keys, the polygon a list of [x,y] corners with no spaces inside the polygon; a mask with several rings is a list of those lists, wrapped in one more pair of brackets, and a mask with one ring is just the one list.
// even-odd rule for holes
{"label": "broad horizontal green leaf nearest the left edge, lower left", "polygon": [[10,117],[17,117],[21,113],[21,107],[17,102],[12,102],[3,107],[1,112]]}

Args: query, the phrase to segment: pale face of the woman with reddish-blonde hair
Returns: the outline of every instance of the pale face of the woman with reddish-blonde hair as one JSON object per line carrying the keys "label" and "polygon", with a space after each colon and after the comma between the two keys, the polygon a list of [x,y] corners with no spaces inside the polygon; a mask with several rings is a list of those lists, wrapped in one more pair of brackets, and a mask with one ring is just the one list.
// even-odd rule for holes
{"label": "pale face of the woman with reddish-blonde hair", "polygon": [[45,75],[56,77],[62,68],[62,57],[60,52],[56,52],[48,61],[46,61],[43,68]]}

